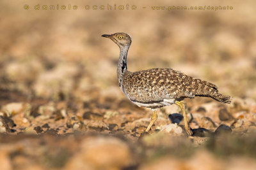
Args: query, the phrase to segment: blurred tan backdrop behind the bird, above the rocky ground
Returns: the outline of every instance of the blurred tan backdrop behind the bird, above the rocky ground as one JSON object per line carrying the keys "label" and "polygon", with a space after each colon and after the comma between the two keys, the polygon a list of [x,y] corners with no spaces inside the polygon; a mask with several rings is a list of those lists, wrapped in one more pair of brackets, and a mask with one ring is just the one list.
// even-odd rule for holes
{"label": "blurred tan backdrop behind the bird, above the rocky ground", "polygon": [[[24,10],[24,5],[29,10]],[[35,10],[36,5],[40,10]],[[50,5],[77,10],[49,10]],[[99,6],[129,4],[129,10]],[[40,97],[118,89],[119,49],[101,34],[132,36],[128,68],[172,67],[211,81],[224,94],[256,96],[254,1],[1,1],[1,89]],[[43,10],[46,5],[47,10]],[[84,6],[90,6],[85,10]],[[98,10],[92,10],[97,5]],[[136,10],[131,10],[135,5]],[[233,10],[152,10],[151,6],[233,6]],[[146,7],[145,9],[143,7]],[[110,90],[110,91],[109,91]],[[120,90],[118,89],[118,92]],[[118,94],[118,93],[117,93]],[[113,94],[116,95],[116,94]],[[66,96],[67,97],[67,96]],[[123,96],[124,97],[124,96]]]}

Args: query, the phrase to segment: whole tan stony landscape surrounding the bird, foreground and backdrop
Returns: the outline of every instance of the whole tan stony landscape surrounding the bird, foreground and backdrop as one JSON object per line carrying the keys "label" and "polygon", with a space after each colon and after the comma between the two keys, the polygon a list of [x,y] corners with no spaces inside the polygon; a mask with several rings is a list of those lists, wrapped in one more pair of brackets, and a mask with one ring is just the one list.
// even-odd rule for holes
{"label": "whole tan stony landscape surrounding the bird, foreground and backdrop", "polygon": [[[63,5],[66,10],[61,10]],[[102,5],[104,10],[99,9]],[[118,10],[120,5],[124,10]],[[255,169],[255,5],[253,0],[1,0],[1,166]],[[214,10],[153,10],[156,6]],[[230,105],[196,97],[187,106],[193,129],[215,133],[225,124],[224,130],[232,129],[235,137],[202,138],[207,136],[202,131],[199,137],[187,138],[177,132],[182,122],[171,114],[177,116],[180,110],[170,106],[159,110],[152,135],[141,139],[151,113],[132,104],[118,87],[119,48],[101,37],[115,32],[132,37],[129,71],[171,67],[210,81],[222,94],[234,97]],[[174,130],[155,132],[166,131],[166,124]]]}

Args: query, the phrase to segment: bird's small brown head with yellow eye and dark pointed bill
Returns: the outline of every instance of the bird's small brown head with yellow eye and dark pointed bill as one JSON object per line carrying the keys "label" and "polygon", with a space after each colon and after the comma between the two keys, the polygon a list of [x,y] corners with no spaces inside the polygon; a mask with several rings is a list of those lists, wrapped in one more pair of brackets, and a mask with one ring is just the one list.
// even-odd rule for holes
{"label": "bird's small brown head with yellow eye and dark pointed bill", "polygon": [[131,37],[124,32],[117,32],[115,34],[103,34],[102,37],[106,37],[114,41],[120,48],[124,46],[130,46],[132,43]]}

